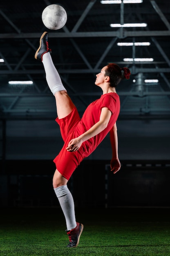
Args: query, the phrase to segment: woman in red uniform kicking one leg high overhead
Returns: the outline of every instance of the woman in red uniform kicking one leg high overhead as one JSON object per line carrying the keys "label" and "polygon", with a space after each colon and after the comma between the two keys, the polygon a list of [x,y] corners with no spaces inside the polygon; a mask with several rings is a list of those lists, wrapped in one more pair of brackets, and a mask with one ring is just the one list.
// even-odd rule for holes
{"label": "woman in red uniform kicking one leg high overhead", "polygon": [[67,94],[58,71],[51,58],[48,46],[48,33],[40,38],[40,46],[35,58],[42,61],[45,68],[46,80],[56,99],[57,118],[64,146],[54,159],[56,171],[53,177],[53,187],[63,210],[69,236],[67,247],[77,247],[83,224],[76,222],[74,200],[67,182],[81,161],[89,156],[110,132],[112,145],[111,171],[116,173],[121,164],[118,158],[118,140],[116,120],[120,112],[120,100],[116,86],[122,79],[129,79],[130,70],[120,68],[110,63],[96,75],[95,84],[103,90],[100,99],[92,102],[80,118],[76,106]]}

